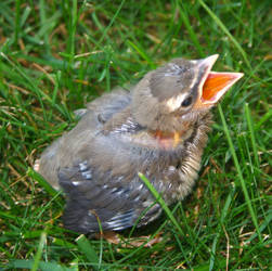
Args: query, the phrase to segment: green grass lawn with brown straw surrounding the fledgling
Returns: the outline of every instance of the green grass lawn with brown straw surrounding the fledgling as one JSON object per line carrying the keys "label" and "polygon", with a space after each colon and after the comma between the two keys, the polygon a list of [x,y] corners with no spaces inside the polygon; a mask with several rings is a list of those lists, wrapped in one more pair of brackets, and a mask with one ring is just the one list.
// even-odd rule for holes
{"label": "green grass lawn with brown straw surrounding the fledgling", "polygon": [[[1,0],[0,269],[271,268],[271,8],[270,0]],[[126,247],[65,230],[63,196],[31,167],[75,126],[73,111],[172,57],[215,53],[215,70],[245,76],[213,109],[192,194],[172,212],[159,198],[165,216],[124,233],[161,241]]]}

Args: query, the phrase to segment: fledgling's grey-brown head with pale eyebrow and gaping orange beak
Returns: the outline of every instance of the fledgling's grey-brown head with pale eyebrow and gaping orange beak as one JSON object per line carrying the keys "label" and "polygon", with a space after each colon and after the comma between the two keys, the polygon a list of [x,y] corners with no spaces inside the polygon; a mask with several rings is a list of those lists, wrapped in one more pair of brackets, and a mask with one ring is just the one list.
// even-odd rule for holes
{"label": "fledgling's grey-brown head with pale eyebrow and gaping orange beak", "polygon": [[169,132],[195,122],[243,76],[211,72],[218,56],[174,59],[146,74],[133,92],[135,120],[147,129]]}

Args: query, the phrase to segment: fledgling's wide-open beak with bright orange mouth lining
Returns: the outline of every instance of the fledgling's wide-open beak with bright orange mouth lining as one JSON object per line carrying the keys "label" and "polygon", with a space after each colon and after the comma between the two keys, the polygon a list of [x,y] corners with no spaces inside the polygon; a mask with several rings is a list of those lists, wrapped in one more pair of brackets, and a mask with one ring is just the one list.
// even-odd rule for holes
{"label": "fledgling's wide-open beak with bright orange mouth lining", "polygon": [[241,78],[242,73],[217,73],[211,67],[218,59],[218,54],[208,56],[199,62],[199,68],[206,72],[199,85],[198,99],[194,108],[205,108],[215,105],[221,96]]}

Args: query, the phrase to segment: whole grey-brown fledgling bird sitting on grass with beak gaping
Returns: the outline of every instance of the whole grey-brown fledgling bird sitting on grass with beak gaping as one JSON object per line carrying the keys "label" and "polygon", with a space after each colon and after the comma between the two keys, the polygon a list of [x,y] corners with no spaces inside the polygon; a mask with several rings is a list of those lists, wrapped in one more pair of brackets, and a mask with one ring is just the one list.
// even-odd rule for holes
{"label": "whole grey-brown fledgling bird sitting on grass with beak gaping", "polygon": [[131,91],[102,95],[87,105],[73,130],[42,153],[38,171],[67,197],[66,228],[90,233],[101,224],[103,231],[117,231],[141,216],[138,227],[157,218],[161,208],[153,205],[139,172],[167,204],[190,193],[210,108],[243,76],[211,72],[217,59],[174,59],[147,73]]}

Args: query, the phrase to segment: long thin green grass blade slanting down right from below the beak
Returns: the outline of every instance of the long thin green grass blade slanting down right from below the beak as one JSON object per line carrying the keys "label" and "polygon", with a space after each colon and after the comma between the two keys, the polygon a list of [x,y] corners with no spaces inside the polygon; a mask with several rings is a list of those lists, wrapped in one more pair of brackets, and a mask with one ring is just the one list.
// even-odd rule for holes
{"label": "long thin green grass blade slanting down right from below the beak", "polygon": [[259,229],[258,221],[257,221],[257,216],[256,216],[256,214],[254,211],[251,201],[250,201],[250,197],[249,197],[248,192],[247,192],[246,183],[245,183],[245,180],[243,178],[243,173],[242,173],[242,170],[241,170],[241,167],[239,167],[239,163],[238,163],[238,158],[237,158],[237,155],[236,155],[236,152],[235,152],[235,149],[234,149],[234,144],[232,142],[232,138],[231,138],[231,134],[230,134],[230,131],[229,131],[229,128],[228,128],[228,125],[226,125],[226,121],[225,121],[225,118],[224,118],[224,115],[223,115],[223,111],[222,111],[222,107],[221,107],[220,104],[219,104],[218,108],[219,108],[221,121],[223,124],[224,133],[225,133],[225,137],[226,137],[229,145],[230,145],[233,162],[234,162],[235,168],[237,170],[237,175],[238,175],[238,179],[239,179],[242,190],[243,190],[243,193],[244,193],[244,196],[245,196],[245,201],[246,201],[247,207],[249,209],[249,214],[251,216],[254,225],[255,225],[256,231],[258,233],[259,241],[262,242],[262,237],[261,237],[261,234],[260,234],[260,229]]}

